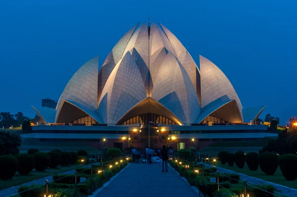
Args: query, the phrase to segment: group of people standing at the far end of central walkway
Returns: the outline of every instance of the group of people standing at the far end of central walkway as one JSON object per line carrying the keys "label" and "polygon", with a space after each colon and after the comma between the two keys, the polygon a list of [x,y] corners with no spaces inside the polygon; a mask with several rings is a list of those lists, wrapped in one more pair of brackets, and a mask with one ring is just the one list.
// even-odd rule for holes
{"label": "group of people standing at the far end of central walkway", "polygon": [[[139,163],[139,159],[140,159],[139,148],[132,148],[130,153],[134,155],[135,163]],[[148,161],[149,163],[151,163],[151,157],[158,156],[162,158],[162,172],[164,172],[164,170],[165,172],[168,172],[167,160],[169,158],[169,155],[171,154],[173,154],[173,148],[168,149],[165,145],[163,145],[162,149],[151,149],[147,146],[145,150],[145,161]],[[165,165],[165,169],[164,169],[164,165]]]}

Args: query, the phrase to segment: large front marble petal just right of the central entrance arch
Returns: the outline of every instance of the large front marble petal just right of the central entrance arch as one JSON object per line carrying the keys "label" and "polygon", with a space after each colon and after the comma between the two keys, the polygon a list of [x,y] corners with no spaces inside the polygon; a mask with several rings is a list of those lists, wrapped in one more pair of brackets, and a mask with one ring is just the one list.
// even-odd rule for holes
{"label": "large front marble petal just right of the central entrance arch", "polygon": [[200,112],[195,87],[171,52],[168,52],[159,69],[152,98],[172,111],[183,124],[195,122]]}

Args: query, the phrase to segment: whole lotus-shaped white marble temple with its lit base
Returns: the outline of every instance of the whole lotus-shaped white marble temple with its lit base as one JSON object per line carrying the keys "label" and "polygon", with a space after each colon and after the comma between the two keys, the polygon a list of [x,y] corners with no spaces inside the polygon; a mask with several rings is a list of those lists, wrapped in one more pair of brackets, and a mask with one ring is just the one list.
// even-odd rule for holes
{"label": "whole lotus-shaped white marble temple with its lit base", "polygon": [[274,135],[256,122],[265,107],[243,108],[213,62],[201,55],[195,62],[164,25],[144,22],[118,41],[102,65],[98,56],[82,65],[55,109],[33,106],[43,125],[22,137],[99,149],[202,148]]}

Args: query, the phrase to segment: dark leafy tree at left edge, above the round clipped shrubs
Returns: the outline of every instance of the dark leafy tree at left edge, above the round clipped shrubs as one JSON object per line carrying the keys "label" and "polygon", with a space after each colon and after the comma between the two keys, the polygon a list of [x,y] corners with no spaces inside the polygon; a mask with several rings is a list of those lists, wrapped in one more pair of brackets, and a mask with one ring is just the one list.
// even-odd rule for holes
{"label": "dark leafy tree at left edge, above the round clipped shrubs", "polygon": [[21,139],[9,132],[0,132],[0,155],[10,154],[15,148],[21,146]]}

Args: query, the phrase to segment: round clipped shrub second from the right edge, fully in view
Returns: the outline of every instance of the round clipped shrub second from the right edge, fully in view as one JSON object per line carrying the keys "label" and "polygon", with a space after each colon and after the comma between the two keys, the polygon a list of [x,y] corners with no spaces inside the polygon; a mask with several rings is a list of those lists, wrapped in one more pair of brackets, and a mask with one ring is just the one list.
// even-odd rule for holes
{"label": "round clipped shrub second from the right edge, fully in view", "polygon": [[279,156],[273,152],[263,152],[259,156],[259,165],[266,175],[273,175],[277,169]]}

